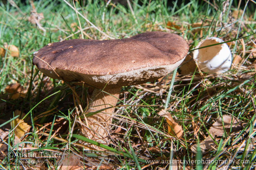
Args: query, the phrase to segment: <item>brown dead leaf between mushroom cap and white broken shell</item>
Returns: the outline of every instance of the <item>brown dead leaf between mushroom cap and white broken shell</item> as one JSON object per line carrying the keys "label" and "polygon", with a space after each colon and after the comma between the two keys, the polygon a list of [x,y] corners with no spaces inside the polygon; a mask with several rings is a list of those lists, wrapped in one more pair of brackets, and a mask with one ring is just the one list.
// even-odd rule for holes
{"label": "brown dead leaf between mushroom cap and white broken shell", "polygon": [[196,70],[196,63],[191,55],[187,55],[185,60],[181,63],[180,66],[180,74],[188,75],[190,73],[194,73]]}

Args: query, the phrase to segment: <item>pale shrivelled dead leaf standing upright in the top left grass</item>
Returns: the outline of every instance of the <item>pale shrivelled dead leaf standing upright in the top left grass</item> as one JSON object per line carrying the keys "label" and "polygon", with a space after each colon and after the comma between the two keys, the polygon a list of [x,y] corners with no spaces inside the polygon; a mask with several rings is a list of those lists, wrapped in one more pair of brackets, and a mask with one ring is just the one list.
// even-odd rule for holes
{"label": "pale shrivelled dead leaf standing upright in the top left grass", "polygon": [[30,16],[28,17],[28,21],[34,25],[37,25],[39,29],[45,31],[45,29],[40,24],[40,21],[44,18],[43,12],[41,13],[36,12],[36,8],[34,6],[33,1],[30,1],[30,5],[31,5],[31,10],[30,10]]}

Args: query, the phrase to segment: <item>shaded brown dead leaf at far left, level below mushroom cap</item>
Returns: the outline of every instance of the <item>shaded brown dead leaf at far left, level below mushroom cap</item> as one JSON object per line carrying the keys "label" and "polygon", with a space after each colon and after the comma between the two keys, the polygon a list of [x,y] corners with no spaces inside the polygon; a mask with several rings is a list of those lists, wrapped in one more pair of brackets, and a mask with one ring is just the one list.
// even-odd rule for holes
{"label": "shaded brown dead leaf at far left, level below mushroom cap", "polygon": [[12,94],[11,99],[18,99],[19,97],[25,98],[26,91],[22,90],[23,88],[19,83],[7,85],[7,87],[5,88],[5,91]]}

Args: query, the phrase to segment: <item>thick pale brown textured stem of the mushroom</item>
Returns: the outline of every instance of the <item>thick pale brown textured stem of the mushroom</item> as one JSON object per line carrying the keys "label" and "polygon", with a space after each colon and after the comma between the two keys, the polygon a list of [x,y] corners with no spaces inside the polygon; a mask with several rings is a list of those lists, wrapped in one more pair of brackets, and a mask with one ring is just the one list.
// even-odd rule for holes
{"label": "thick pale brown textured stem of the mushroom", "polygon": [[[119,93],[121,87],[118,88],[105,88],[103,91],[94,89],[91,99],[92,102],[88,106],[88,112],[101,110],[111,106],[116,106],[119,98]],[[105,93],[107,92],[107,93]],[[106,138],[109,135],[110,124],[112,122],[111,113],[113,113],[115,108],[110,108],[104,110],[104,112],[97,113],[90,117],[87,117],[90,127],[86,127],[85,136],[92,140],[98,140],[101,138]]]}

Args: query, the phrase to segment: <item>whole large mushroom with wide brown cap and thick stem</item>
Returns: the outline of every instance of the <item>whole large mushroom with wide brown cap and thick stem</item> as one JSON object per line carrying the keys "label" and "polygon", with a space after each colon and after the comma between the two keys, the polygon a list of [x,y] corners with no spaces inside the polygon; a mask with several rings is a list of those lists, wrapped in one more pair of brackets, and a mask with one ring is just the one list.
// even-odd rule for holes
{"label": "whole large mushroom with wide brown cap and thick stem", "polygon": [[[122,86],[154,81],[172,72],[185,59],[188,48],[182,37],[167,32],[103,41],[71,39],[34,52],[33,64],[53,79],[82,81],[94,87],[88,106],[92,112],[115,106]],[[98,141],[107,138],[114,110],[87,117],[90,127],[84,135]]]}

